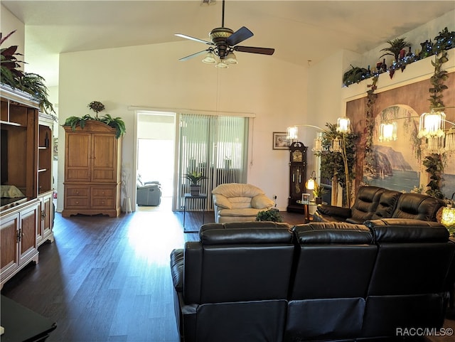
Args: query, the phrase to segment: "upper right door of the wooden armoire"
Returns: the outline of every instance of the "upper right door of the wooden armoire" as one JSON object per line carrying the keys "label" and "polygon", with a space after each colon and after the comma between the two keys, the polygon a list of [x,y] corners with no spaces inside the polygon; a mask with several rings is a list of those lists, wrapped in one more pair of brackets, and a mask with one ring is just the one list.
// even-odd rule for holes
{"label": "upper right door of the wooden armoire", "polygon": [[92,181],[117,181],[117,139],[113,134],[93,134],[92,140]]}

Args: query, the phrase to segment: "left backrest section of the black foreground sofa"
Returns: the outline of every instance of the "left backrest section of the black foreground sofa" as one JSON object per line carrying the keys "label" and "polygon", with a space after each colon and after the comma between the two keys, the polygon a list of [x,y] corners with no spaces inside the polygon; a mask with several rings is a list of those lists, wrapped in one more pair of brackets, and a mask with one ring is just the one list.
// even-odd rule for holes
{"label": "left backrest section of the black foreground sofa", "polygon": [[289,226],[210,224],[187,242],[183,296],[188,304],[287,299],[294,244]]}

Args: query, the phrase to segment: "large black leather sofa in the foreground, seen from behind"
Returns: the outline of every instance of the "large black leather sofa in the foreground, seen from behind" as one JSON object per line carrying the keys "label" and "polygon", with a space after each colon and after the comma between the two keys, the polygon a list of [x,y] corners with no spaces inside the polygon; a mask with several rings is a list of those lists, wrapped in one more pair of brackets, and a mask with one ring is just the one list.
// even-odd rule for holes
{"label": "large black leather sofa in the foreground, seen from behind", "polygon": [[200,241],[171,253],[181,341],[379,341],[440,328],[455,244],[439,223],[390,220],[203,225]]}

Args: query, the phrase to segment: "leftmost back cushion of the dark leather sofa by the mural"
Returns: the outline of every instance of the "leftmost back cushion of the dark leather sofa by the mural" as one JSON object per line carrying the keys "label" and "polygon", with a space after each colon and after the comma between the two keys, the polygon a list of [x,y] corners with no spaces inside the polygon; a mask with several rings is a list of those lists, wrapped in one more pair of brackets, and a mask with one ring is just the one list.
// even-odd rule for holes
{"label": "leftmost back cushion of the dark leather sofa by the mural", "polygon": [[357,197],[351,208],[352,218],[362,222],[369,220],[378,208],[378,204],[385,188],[378,186],[360,186]]}

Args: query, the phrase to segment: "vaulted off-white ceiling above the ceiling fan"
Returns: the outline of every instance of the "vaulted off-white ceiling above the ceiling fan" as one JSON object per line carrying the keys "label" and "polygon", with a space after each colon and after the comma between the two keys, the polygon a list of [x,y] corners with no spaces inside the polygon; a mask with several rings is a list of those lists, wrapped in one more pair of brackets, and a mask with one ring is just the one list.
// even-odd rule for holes
{"label": "vaulted off-white ceiling above the ceiling fan", "polygon": [[[1,0],[26,25],[26,62],[48,86],[58,84],[58,54],[81,50],[208,40],[221,26],[222,1]],[[445,1],[239,1],[225,2],[225,26],[247,26],[255,36],[242,46],[275,48],[271,58],[317,63],[346,49],[364,53],[455,9]],[[205,50],[181,44],[181,56]],[[238,53],[240,54],[240,53]],[[237,54],[237,58],[239,58]],[[185,62],[182,62],[185,63]]]}

